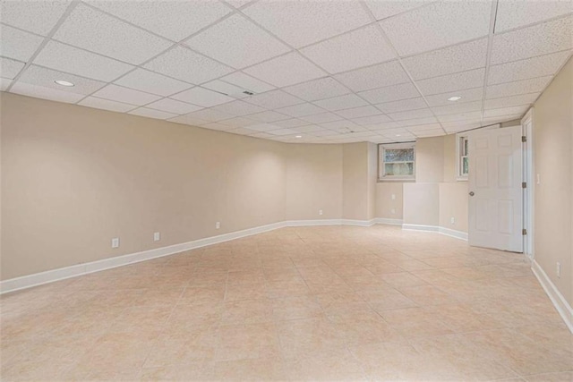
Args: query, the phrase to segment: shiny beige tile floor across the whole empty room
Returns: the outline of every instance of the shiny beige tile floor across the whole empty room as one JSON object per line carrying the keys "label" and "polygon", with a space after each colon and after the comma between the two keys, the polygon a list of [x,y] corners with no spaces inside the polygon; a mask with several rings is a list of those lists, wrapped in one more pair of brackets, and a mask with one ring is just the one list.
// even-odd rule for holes
{"label": "shiny beige tile floor across the whole empty room", "polygon": [[285,228],[2,296],[3,380],[573,380],[522,255]]}

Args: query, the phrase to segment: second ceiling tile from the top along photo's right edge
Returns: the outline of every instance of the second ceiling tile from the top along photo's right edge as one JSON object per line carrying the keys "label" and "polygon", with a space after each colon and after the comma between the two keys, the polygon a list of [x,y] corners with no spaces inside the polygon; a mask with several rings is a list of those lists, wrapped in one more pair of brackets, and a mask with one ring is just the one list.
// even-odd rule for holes
{"label": "second ceiling tile from the top along photo's right edge", "polygon": [[543,22],[493,36],[490,64],[522,60],[573,47],[573,17]]}

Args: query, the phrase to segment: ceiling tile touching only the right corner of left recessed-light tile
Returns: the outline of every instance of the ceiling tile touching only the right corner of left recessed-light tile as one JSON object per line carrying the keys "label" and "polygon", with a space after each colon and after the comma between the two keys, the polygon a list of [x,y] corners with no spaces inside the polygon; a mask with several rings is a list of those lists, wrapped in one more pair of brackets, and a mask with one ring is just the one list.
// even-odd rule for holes
{"label": "ceiling tile touching only the right corner of left recessed-light tile", "polygon": [[164,97],[192,87],[192,85],[186,82],[174,80],[156,72],[150,72],[140,68],[127,73],[124,77],[115,81],[115,83],[126,88],[147,91],[148,93],[158,94]]}

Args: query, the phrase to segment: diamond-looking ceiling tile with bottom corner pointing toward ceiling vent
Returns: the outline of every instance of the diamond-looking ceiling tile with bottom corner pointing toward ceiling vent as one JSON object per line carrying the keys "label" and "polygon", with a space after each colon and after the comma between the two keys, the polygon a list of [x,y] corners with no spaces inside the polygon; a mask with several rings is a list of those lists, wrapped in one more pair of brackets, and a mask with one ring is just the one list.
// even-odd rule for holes
{"label": "diamond-looking ceiling tile with bottom corner pointing toward ceiling vent", "polygon": [[241,14],[234,14],[218,22],[186,40],[185,44],[236,69],[260,63],[290,50]]}

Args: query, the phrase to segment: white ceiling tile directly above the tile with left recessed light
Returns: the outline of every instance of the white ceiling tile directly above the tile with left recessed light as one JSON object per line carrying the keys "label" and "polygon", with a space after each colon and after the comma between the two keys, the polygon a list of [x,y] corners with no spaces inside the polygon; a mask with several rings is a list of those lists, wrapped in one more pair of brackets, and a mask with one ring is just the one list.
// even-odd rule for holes
{"label": "white ceiling tile directly above the tile with left recessed light", "polygon": [[113,81],[133,69],[130,64],[120,63],[56,41],[47,43],[34,60],[34,64],[99,81]]}

